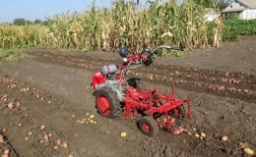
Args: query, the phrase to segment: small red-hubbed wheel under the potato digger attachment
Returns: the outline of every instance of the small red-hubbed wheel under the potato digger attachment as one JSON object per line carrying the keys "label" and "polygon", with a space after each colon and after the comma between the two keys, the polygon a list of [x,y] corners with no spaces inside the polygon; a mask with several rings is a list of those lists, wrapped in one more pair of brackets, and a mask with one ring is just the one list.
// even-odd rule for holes
{"label": "small red-hubbed wheel under the potato digger attachment", "polygon": [[157,121],[150,116],[140,119],[139,129],[148,136],[154,136],[160,131]]}

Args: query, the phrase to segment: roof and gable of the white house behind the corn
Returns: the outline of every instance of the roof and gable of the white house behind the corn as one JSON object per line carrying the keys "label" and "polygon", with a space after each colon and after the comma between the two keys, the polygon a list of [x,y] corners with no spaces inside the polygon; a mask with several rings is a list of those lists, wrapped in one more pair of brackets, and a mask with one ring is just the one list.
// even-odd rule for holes
{"label": "roof and gable of the white house behind the corn", "polygon": [[236,0],[228,5],[222,13],[239,12],[247,9],[256,9],[256,0]]}

